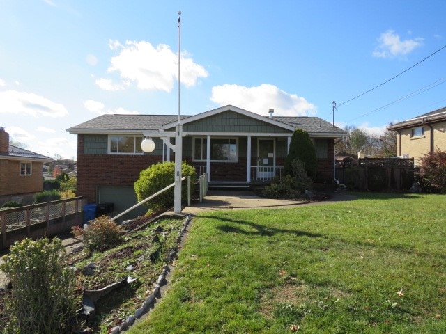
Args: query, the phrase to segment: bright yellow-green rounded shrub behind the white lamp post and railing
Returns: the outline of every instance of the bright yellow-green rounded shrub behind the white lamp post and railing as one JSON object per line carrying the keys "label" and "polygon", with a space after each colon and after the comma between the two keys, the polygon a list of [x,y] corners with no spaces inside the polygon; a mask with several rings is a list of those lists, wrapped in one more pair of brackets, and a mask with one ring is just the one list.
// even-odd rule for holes
{"label": "bright yellow-green rounded shrub behind the white lamp post and railing", "polygon": [[[159,163],[150,166],[146,170],[142,170],[141,173],[139,173],[139,179],[137,182],[134,182],[134,191],[137,194],[137,199],[139,201],[144,200],[154,193],[157,193],[157,191],[169,186],[169,184],[174,183],[174,173],[174,162]],[[194,184],[197,181],[195,168],[187,165],[185,161],[183,161],[181,173],[183,174],[183,177],[191,177],[191,193],[194,193]],[[181,198],[183,200],[187,198],[187,186],[185,185],[185,182],[183,182],[183,186],[181,187]],[[174,205],[174,187],[146,202],[146,206],[154,211],[167,209],[172,205]]]}

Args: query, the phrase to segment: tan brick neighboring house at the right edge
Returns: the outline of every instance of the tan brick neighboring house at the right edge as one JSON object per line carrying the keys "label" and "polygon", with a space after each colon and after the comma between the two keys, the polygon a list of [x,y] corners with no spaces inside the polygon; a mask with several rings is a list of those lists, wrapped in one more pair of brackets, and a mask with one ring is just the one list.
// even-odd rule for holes
{"label": "tan brick neighboring house at the right edge", "polygon": [[424,154],[446,150],[446,107],[387,127],[396,131],[397,155],[420,163]]}

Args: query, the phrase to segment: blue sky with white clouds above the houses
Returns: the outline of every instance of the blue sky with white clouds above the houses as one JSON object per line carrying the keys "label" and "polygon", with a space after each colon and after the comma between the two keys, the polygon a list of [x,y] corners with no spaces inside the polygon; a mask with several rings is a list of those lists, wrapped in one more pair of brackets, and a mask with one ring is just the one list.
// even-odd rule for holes
{"label": "blue sky with white clouds above the houses", "polygon": [[444,0],[0,0],[0,8],[0,126],[50,157],[76,158],[66,129],[102,113],[177,113],[178,10],[182,114],[233,104],[332,122],[336,101],[338,126],[379,133],[446,106]]}

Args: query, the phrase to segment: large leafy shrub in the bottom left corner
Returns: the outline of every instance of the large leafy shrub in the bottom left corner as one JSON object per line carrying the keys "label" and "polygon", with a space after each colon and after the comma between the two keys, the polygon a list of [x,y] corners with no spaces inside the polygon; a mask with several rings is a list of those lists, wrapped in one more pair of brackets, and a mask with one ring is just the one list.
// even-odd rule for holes
{"label": "large leafy shrub in the bottom left corner", "polygon": [[10,318],[2,333],[71,333],[76,315],[75,279],[55,238],[15,242],[0,269],[13,286],[6,296]]}

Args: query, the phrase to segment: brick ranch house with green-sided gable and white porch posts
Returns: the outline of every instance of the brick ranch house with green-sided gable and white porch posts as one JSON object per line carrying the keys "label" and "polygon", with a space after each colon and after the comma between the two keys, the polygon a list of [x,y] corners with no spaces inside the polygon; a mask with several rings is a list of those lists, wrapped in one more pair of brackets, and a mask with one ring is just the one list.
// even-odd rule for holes
{"label": "brick ranch house with green-sided gable and white porch posts", "polygon": [[[332,182],[334,141],[346,135],[318,117],[260,116],[236,106],[222,106],[194,116],[181,116],[183,160],[197,174],[208,173],[209,184],[250,185],[282,175],[295,129],[314,141],[317,182]],[[89,202],[114,202],[126,209],[136,201],[133,184],[151,164],[174,161],[165,141],[175,131],[177,115],[102,115],[70,127],[77,134],[77,195]],[[143,132],[157,132],[155,150],[141,150]],[[126,202],[125,198],[129,200]],[[131,200],[130,200],[131,198]]]}

